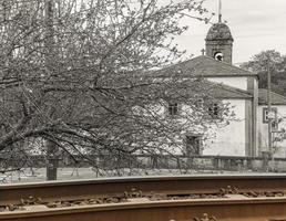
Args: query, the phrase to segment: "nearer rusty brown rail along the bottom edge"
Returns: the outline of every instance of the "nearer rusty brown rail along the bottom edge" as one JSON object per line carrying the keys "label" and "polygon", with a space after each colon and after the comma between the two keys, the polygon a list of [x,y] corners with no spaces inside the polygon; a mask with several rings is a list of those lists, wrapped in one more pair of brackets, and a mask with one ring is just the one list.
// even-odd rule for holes
{"label": "nearer rusty brown rail along the bottom edge", "polygon": [[[137,201],[2,212],[6,221],[270,221],[286,220],[286,198]],[[212,218],[212,219],[211,219]],[[203,219],[202,219],[203,220]]]}

